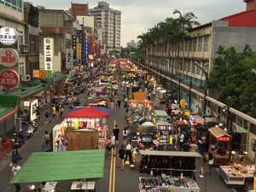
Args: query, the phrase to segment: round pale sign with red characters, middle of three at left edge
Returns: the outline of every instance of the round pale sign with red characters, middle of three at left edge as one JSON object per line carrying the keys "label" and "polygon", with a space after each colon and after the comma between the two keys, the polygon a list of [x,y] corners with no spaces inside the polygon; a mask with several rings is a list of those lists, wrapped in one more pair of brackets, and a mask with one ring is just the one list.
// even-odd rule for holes
{"label": "round pale sign with red characters, middle of three at left edge", "polygon": [[15,67],[19,55],[15,49],[0,49],[0,65],[4,67]]}

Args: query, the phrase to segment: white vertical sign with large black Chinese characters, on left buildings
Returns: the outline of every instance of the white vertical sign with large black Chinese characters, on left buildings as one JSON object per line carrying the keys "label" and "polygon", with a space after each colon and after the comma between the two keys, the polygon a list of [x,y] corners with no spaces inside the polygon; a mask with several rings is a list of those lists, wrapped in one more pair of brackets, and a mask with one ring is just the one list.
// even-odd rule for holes
{"label": "white vertical sign with large black Chinese characters, on left buildings", "polygon": [[44,70],[53,70],[54,38],[44,38]]}

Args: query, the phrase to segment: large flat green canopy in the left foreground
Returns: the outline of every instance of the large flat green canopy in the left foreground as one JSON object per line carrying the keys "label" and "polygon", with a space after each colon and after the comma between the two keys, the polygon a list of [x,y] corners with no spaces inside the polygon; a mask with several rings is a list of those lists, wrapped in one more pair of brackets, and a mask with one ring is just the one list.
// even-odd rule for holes
{"label": "large flat green canopy in the left foreground", "polygon": [[104,177],[105,151],[33,153],[11,183],[41,183]]}

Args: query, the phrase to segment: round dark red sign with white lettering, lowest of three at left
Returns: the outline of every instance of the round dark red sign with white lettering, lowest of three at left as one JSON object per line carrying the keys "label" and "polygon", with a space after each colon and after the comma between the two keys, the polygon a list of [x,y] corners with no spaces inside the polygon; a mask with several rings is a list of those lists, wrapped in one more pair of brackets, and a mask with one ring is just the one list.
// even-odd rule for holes
{"label": "round dark red sign with white lettering, lowest of three at left", "polygon": [[20,83],[20,75],[15,70],[4,70],[0,73],[0,83],[6,89],[11,89]]}

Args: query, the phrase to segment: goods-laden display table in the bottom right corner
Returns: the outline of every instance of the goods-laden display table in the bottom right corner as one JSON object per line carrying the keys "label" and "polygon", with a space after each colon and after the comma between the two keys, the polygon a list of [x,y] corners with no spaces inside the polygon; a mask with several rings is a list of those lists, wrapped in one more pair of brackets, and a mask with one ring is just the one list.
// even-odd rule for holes
{"label": "goods-laden display table in the bottom right corner", "polygon": [[246,178],[253,177],[254,166],[241,166],[246,172],[241,172],[234,166],[220,166],[219,175],[226,184],[244,185]]}

